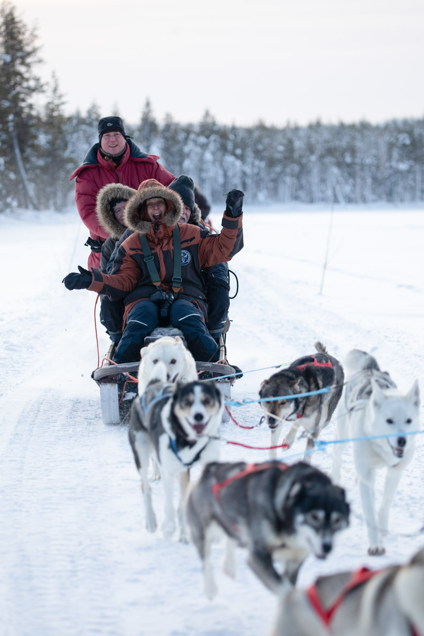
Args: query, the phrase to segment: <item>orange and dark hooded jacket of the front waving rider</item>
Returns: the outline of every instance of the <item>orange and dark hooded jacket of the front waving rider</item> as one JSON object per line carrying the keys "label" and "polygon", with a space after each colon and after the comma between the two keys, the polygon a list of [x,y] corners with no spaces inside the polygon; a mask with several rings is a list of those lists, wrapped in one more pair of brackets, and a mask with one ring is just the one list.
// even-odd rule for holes
{"label": "orange and dark hooded jacket of the front waving rider", "polygon": [[[139,191],[127,203],[125,225],[133,230],[118,249],[111,274],[100,273],[92,268],[93,282],[88,289],[107,294],[111,300],[125,299],[127,307],[144,298],[149,299],[156,287],[149,276],[140,245],[139,235],[145,234],[153,254],[153,262],[161,280],[161,289],[172,291],[174,275],[174,242],[172,232],[181,218],[182,201],[173,190],[160,183],[140,184]],[[149,198],[161,197],[168,209],[161,223],[140,220],[140,210]],[[203,267],[226,263],[243,247],[242,216],[233,218],[224,214],[222,231],[211,235],[209,230],[188,223],[179,223],[181,235],[181,291],[179,298],[195,302],[207,320],[206,296],[200,270]]]}

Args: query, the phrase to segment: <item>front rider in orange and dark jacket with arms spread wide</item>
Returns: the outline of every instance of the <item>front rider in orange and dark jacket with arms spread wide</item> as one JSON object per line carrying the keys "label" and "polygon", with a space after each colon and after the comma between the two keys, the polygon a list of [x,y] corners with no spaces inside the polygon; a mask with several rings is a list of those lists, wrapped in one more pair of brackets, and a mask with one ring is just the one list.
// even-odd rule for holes
{"label": "front rider in orange and dark jacket with arms spread wide", "polygon": [[[125,299],[123,336],[114,362],[139,360],[144,338],[158,326],[160,317],[181,329],[196,360],[217,359],[218,347],[205,325],[207,303],[200,272],[231,260],[242,249],[242,204],[243,193],[231,190],[222,232],[210,235],[206,228],[177,225],[182,200],[175,191],[160,183],[140,184],[125,207],[125,225],[133,234],[120,245],[112,274],[95,268],[90,273],[79,266],[79,273],[64,278],[67,289],[90,289],[107,294],[110,300]],[[174,234],[181,240],[180,279],[174,276]]]}

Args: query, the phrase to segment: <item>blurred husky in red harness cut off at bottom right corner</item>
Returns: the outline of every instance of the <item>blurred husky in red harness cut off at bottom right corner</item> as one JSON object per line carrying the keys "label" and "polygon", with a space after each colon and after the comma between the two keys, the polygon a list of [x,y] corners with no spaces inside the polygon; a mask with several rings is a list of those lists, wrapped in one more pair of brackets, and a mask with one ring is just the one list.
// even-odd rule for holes
{"label": "blurred husky in red harness cut off at bottom right corner", "polygon": [[272,636],[423,636],[424,549],[406,565],[322,576],[292,590]]}

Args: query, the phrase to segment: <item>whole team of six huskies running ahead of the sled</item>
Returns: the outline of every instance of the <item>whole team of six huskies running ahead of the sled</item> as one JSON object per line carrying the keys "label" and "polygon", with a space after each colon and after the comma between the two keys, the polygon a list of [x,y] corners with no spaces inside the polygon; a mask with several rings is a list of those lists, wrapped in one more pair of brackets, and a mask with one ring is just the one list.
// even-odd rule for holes
{"label": "whole team of six huskies running ahead of the sled", "polygon": [[[147,476],[151,458],[165,494],[163,534],[171,537],[175,532],[172,493],[177,478],[179,539],[186,542],[190,534],[198,550],[208,598],[217,592],[211,545],[223,534],[224,572],[235,577],[235,549],[246,548],[250,568],[281,598],[275,636],[423,634],[424,610],[418,597],[424,593],[424,550],[404,567],[343,572],[318,579],[307,591],[294,587],[306,556],[325,558],[334,535],[349,523],[345,491],[336,485],[348,441],[334,445],[332,480],[310,465],[313,441],[336,407],[337,439],[361,438],[353,443],[353,457],[370,555],[385,551],[382,538],[390,504],[402,470],[413,457],[413,432],[420,430],[417,382],[402,395],[377,361],[360,350],[346,357],[345,378],[343,367],[324,345],[317,342],[315,348],[316,354],[303,356],[264,380],[259,391],[261,398],[268,399],[299,396],[261,402],[271,446],[277,445],[284,422],[292,424],[285,436],[287,446],[299,425],[304,427],[308,436],[304,461],[290,466],[277,461],[275,451],[270,452],[270,461],[260,464],[220,462],[224,404],[215,382],[196,379],[194,361],[178,336],[161,338],[142,349],[139,377],[143,379],[132,406],[129,438],[142,480],[146,528],[156,529]],[[329,391],[303,395],[325,387]],[[189,490],[189,471],[195,466],[204,468]],[[373,484],[379,467],[386,467],[387,473],[376,515]],[[276,563],[280,565],[275,567]],[[388,614],[383,612],[386,605]]]}

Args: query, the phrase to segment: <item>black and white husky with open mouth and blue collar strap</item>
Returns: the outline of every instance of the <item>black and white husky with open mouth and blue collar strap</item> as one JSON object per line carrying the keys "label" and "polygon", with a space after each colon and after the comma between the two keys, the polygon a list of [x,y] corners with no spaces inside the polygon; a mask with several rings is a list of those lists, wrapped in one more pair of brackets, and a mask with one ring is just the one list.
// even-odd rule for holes
{"label": "black and white husky with open mouth and blue collar strap", "polygon": [[154,377],[146,392],[132,404],[128,435],[135,464],[141,476],[146,529],[156,530],[151,488],[147,478],[149,457],[160,468],[165,494],[163,534],[175,532],[173,504],[174,477],[179,478],[178,518],[180,541],[186,542],[184,499],[189,483],[189,469],[196,464],[219,459],[219,427],[224,403],[214,382],[166,382],[165,364],[155,365]]}

